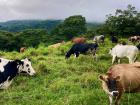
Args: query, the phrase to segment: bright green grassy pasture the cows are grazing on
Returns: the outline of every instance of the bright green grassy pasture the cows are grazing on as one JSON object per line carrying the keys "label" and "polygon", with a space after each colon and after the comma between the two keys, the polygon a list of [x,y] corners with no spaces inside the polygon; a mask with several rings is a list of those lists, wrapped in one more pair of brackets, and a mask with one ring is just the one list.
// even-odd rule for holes
{"label": "bright green grassy pasture the cows are grazing on", "polygon": [[[7,90],[0,90],[0,105],[109,105],[98,76],[111,66],[108,52],[114,45],[106,39],[99,47],[97,61],[91,55],[66,60],[65,52],[71,45],[68,42],[57,49],[40,45],[23,54],[0,52],[8,59],[31,58],[37,72],[34,77],[20,74]],[[140,94],[124,94],[121,105],[140,105]]]}

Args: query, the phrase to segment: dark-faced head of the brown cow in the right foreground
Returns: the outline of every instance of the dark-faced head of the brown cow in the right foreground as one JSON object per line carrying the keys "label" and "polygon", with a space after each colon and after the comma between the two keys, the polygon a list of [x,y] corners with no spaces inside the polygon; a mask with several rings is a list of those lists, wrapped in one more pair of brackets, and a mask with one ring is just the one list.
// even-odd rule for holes
{"label": "dark-faced head of the brown cow in the right foreground", "polygon": [[115,78],[106,75],[100,75],[99,79],[102,81],[103,90],[111,96],[118,96],[118,83],[120,76]]}

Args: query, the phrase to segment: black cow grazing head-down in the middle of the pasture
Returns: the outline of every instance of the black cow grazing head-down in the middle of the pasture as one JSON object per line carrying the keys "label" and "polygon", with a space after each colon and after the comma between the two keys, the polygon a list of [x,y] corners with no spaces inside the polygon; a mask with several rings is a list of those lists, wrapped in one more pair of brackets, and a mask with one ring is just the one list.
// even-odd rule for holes
{"label": "black cow grazing head-down in the middle of the pasture", "polygon": [[79,56],[80,53],[86,54],[88,51],[91,51],[93,55],[96,54],[96,50],[98,48],[97,43],[90,44],[74,44],[71,49],[66,53],[66,58],[69,58],[72,54],[75,54],[76,57]]}

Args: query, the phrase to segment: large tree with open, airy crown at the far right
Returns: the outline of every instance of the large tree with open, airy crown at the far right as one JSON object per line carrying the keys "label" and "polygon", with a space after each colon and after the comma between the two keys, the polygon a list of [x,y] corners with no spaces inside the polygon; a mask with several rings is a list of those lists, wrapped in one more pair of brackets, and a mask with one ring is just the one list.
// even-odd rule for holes
{"label": "large tree with open, airy crown at the far right", "polygon": [[135,7],[128,5],[126,10],[117,9],[115,15],[107,15],[104,27],[101,31],[108,34],[122,36],[140,34],[140,13]]}

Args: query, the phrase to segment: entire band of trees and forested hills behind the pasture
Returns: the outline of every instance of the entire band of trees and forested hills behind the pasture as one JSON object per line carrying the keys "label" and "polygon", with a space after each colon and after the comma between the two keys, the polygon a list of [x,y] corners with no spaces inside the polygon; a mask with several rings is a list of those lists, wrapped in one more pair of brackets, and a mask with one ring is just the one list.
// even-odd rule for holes
{"label": "entire band of trees and forested hills behind the pasture", "polygon": [[117,9],[114,15],[108,15],[104,24],[86,23],[85,17],[74,15],[64,21],[9,21],[0,23],[0,29],[14,32],[0,31],[0,50],[11,51],[23,46],[37,47],[41,43],[47,46],[81,35],[88,38],[99,34],[140,35],[140,13],[128,5],[126,10]]}

